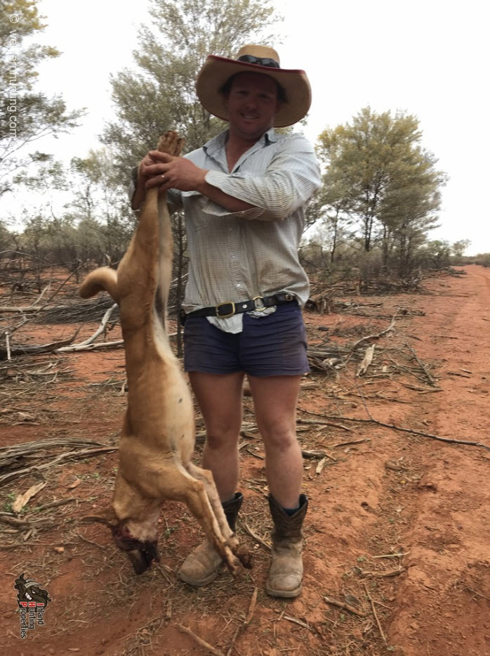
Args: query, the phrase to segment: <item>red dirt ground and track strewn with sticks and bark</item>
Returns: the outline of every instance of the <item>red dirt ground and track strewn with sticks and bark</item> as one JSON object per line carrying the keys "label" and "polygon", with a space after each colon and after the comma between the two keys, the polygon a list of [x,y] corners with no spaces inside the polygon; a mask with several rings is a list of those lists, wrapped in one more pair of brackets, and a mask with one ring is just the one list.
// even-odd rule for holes
{"label": "red dirt ground and track strewn with sticks and bark", "polygon": [[[46,487],[18,516],[27,523],[0,523],[2,544],[15,545],[0,551],[5,653],[27,655],[34,641],[37,650],[55,656],[207,653],[179,631],[183,624],[223,655],[233,645],[230,656],[490,655],[490,452],[347,420],[366,419],[367,406],[382,423],[490,446],[490,271],[466,271],[428,281],[422,294],[377,298],[387,318],[305,316],[312,344],[326,335],[334,343],[351,335],[352,342],[383,330],[404,309],[392,337],[376,342],[380,355],[371,375],[312,373],[317,387],[301,394],[303,421],[343,427],[300,424],[308,429],[299,434],[303,448],[329,455],[318,474],[318,459],[305,460],[310,512],[300,598],[284,602],[265,595],[267,553],[244,532],[249,525],[268,539],[259,439],[249,435],[241,449],[246,503],[239,534],[256,554],[254,570],[236,582],[223,572],[211,588],[198,591],[173,574],[200,539],[182,506],[166,504],[162,513],[164,569],[139,578],[104,527],[80,522],[110,502],[117,465],[110,453],[51,468]],[[72,326],[38,328],[38,335],[29,328],[37,342],[72,332]],[[433,385],[414,377],[416,361],[395,366],[395,344],[415,350]],[[51,361],[53,356],[39,357],[37,371]],[[20,387],[15,404],[0,414],[0,444],[52,437],[115,444],[125,404],[122,364],[121,350],[59,358],[56,380],[46,386],[43,378],[36,395],[26,396]],[[251,414],[246,420],[253,421]],[[0,488],[0,511],[37,480],[31,475]],[[60,500],[70,503],[35,512]],[[46,626],[29,631],[25,641],[13,589],[22,572],[52,599]],[[257,604],[245,627],[255,587]],[[359,602],[362,616],[327,604],[324,596]]]}

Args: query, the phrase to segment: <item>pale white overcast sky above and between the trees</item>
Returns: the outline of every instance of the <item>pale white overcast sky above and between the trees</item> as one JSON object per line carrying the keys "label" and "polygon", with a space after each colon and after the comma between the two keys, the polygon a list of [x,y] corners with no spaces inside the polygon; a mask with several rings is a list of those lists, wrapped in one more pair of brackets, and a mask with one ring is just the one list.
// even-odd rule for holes
{"label": "pale white overcast sky above and between the trees", "polygon": [[[62,51],[39,68],[40,87],[61,93],[69,108],[88,109],[74,134],[39,148],[69,160],[98,147],[103,123],[112,118],[110,73],[131,65],[147,6],[147,0],[39,2],[48,27],[36,40]],[[449,175],[442,226],[430,238],[468,238],[469,254],[490,252],[484,2],[277,0],[277,6],[284,15],[277,46],[282,66],[303,68],[312,84],[307,136],[316,141],[323,129],[350,121],[366,105],[416,115],[423,147]]]}

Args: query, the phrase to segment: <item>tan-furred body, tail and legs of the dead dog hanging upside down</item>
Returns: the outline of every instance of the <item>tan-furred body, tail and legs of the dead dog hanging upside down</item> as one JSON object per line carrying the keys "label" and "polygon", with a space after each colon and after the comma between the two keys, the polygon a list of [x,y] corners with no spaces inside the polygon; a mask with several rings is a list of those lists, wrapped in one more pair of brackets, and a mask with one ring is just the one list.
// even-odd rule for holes
{"label": "tan-furred body, tail and legs of the dead dog hanging upside down", "polygon": [[[158,148],[178,155],[181,146],[178,135],[167,132]],[[152,188],[117,273],[97,269],[80,287],[84,298],[107,290],[119,303],[121,314],[128,409],[112,506],[118,526],[145,542],[157,539],[161,502],[183,501],[236,574],[241,569],[239,559],[248,566],[249,557],[227,524],[211,472],[190,462],[194,451],[193,404],[165,325],[172,252],[166,199]],[[163,317],[155,309],[156,300],[157,307],[164,309]]]}

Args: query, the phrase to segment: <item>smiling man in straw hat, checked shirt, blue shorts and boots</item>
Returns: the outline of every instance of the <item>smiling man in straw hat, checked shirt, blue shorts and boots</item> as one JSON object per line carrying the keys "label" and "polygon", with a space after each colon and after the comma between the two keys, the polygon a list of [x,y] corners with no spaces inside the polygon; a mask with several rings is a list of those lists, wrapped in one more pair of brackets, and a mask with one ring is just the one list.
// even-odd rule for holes
{"label": "smiling man in straw hat, checked shirt, blue shorts and boots", "polygon": [[[267,592],[295,597],[303,577],[303,461],[296,439],[300,377],[308,371],[300,308],[308,281],[298,261],[307,201],[319,187],[314,150],[300,134],[275,134],[310,107],[303,71],[279,65],[276,51],[244,46],[237,59],[208,56],[197,95],[229,129],[186,157],[151,150],[133,195],[160,186],[183,207],[190,253],[185,300],[185,370],[206,424],[203,466],[213,472],[234,529],[242,496],[238,441],[244,375],[265,444],[274,522]],[[202,586],[220,557],[205,541],[179,577]]]}

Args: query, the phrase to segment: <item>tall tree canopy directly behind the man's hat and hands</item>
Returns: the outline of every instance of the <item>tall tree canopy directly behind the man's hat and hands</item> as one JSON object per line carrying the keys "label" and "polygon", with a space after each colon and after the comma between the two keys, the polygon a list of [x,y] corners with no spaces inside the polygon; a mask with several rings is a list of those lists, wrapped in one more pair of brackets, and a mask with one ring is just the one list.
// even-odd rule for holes
{"label": "tall tree canopy directly behind the man's hat and hands", "polygon": [[152,28],[140,28],[133,52],[137,69],[112,77],[117,119],[102,137],[126,175],[167,129],[185,136],[186,151],[223,129],[195,94],[202,63],[211,53],[234,56],[247,42],[270,43],[264,32],[278,20],[268,0],[152,0],[150,15]]}

